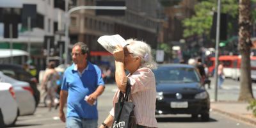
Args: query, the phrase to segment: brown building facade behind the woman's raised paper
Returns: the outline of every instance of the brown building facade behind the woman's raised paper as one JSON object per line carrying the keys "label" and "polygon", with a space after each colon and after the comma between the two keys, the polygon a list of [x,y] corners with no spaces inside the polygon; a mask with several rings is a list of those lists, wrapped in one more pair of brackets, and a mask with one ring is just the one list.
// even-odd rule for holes
{"label": "brown building facade behind the woman's raised paper", "polygon": [[[95,6],[96,1],[77,0],[73,6]],[[124,16],[95,15],[95,10],[79,10],[70,17],[70,42],[86,42],[91,51],[105,51],[97,43],[102,35],[119,34],[125,39],[144,40],[153,48],[157,45],[157,0],[125,0]]]}

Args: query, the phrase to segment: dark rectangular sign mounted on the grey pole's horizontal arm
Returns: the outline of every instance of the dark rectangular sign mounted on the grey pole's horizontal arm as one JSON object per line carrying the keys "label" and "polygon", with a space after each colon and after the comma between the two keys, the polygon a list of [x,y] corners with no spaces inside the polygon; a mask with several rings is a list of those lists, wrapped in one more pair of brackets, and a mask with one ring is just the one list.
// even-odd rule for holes
{"label": "dark rectangular sign mounted on the grey pole's horizontal arm", "polygon": [[[125,1],[96,1],[96,6],[125,6]],[[125,10],[95,10],[96,15],[123,16]]]}

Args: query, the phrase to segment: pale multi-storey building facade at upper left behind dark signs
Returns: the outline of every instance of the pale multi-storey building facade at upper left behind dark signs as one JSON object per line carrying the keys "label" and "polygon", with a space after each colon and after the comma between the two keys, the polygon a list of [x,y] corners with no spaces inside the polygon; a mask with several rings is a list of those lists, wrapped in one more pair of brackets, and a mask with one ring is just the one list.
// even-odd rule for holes
{"label": "pale multi-storey building facade at upper left behind dark signs", "polygon": [[[45,67],[44,54],[44,36],[55,36],[56,31],[64,29],[64,6],[62,0],[1,0],[0,1],[0,49],[10,49],[12,42],[13,49],[21,49],[30,53],[33,64],[39,65],[39,68]],[[24,28],[22,15],[24,4],[36,5],[36,18],[31,19],[31,31]],[[19,22],[17,22],[17,38],[4,38],[4,15],[15,13]],[[8,21],[12,22],[12,21]],[[55,38],[61,38],[56,35]],[[61,39],[60,39],[61,40]],[[56,44],[56,42],[55,42]],[[29,60],[29,57],[17,58],[14,63],[22,64]],[[2,58],[1,63],[9,63]]]}

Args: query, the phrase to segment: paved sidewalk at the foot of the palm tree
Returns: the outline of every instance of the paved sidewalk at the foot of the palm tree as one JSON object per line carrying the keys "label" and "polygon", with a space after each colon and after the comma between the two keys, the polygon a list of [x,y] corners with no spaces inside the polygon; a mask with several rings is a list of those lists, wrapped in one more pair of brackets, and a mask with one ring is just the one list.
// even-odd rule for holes
{"label": "paved sidewalk at the foot of the palm tree", "polygon": [[221,113],[236,120],[241,120],[252,125],[256,125],[256,117],[252,115],[252,110],[247,111],[247,102],[236,101],[220,101],[211,102],[211,109],[217,113]]}

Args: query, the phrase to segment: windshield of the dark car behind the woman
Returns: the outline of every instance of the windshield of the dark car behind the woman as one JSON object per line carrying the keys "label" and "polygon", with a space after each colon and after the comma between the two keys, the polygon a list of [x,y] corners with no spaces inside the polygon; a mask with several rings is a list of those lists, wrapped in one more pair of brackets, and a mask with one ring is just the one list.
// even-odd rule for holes
{"label": "windshield of the dark car behind the woman", "polygon": [[200,78],[195,68],[159,67],[154,70],[157,83],[198,83]]}

